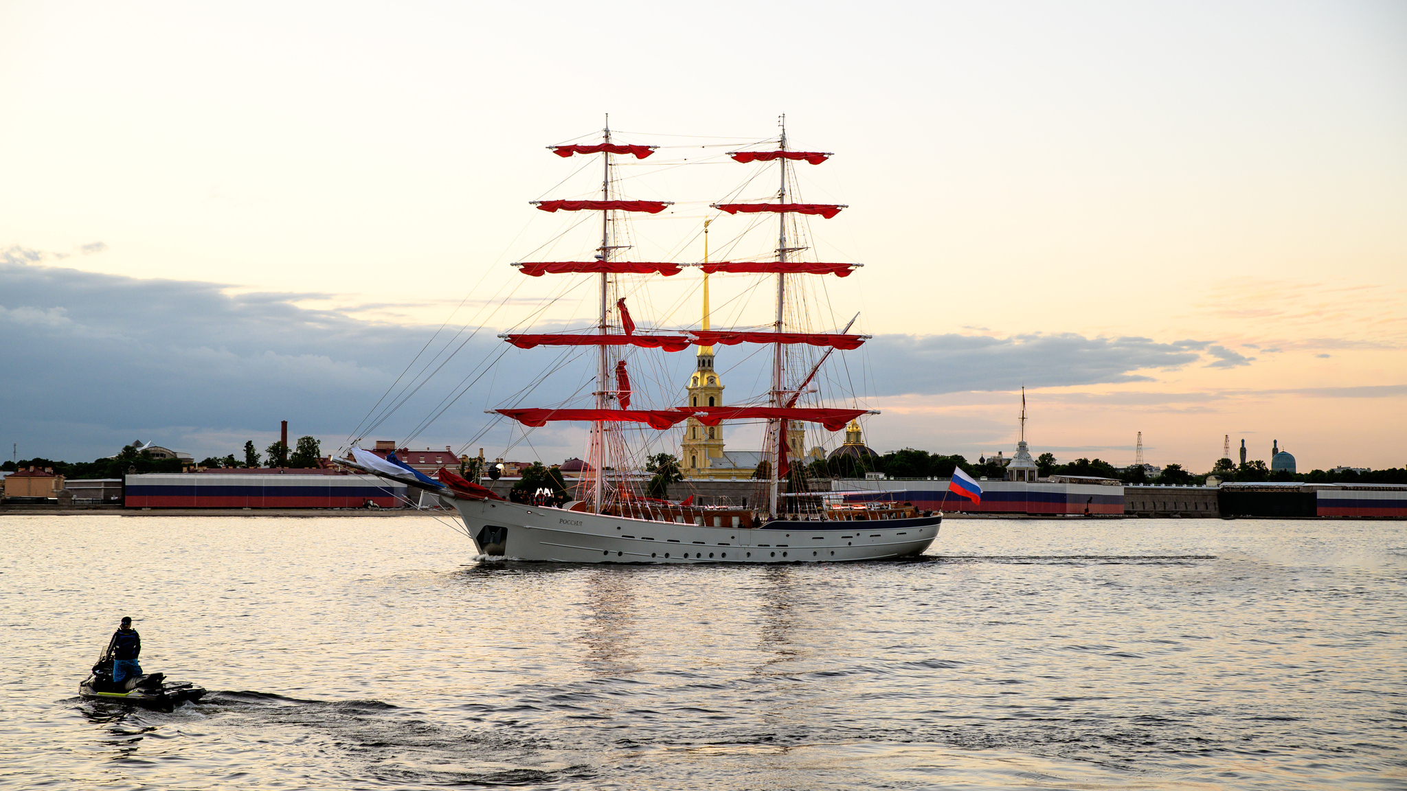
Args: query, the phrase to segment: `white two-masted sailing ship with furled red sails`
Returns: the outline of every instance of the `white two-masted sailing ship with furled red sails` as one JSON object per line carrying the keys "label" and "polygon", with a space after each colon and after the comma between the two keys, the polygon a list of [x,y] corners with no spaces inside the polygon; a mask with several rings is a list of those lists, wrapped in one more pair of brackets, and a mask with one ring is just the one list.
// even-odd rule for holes
{"label": "white two-masted sailing ship with furled red sails", "polygon": [[[801,463],[792,456],[799,450],[796,425],[816,425],[837,432],[870,410],[850,407],[799,405],[802,396],[816,393],[815,381],[833,352],[860,348],[867,335],[850,332],[851,319],[839,332],[813,332],[799,319],[805,305],[792,300],[799,279],[848,276],[858,265],[806,260],[796,255],[808,249],[799,243],[796,220],[830,220],[844,204],[815,204],[794,200],[792,169],[826,162],[829,152],[796,151],[788,146],[785,118],[775,138],[763,141],[763,151],[732,151],[727,156],[743,165],[775,163],[778,190],[761,203],[713,203],[718,214],[705,222],[705,255],[701,263],[632,260],[630,245],[619,239],[618,225],[633,214],[658,214],[670,201],[633,200],[619,194],[616,158],[646,159],[657,146],[622,144],[612,139],[609,117],[601,142],[549,146],[563,158],[599,156],[601,191],[591,200],[539,200],[539,210],[599,213],[601,243],[592,260],[522,262],[515,266],[526,276],[591,274],[595,277],[595,322],[585,332],[509,332],[501,338],[521,349],[539,346],[594,348],[594,404],[590,408],[509,407],[494,412],[523,426],[543,426],[554,421],[581,421],[590,425],[588,455],[575,500],[557,507],[512,502],[488,488],[440,470],[432,480],[409,467],[398,469],[359,448],[352,449],[350,466],[376,474],[405,480],[428,488],[452,507],[463,519],[467,535],[480,552],[521,560],[568,563],[795,563],[875,560],[915,556],[937,538],[941,514],[919,511],[910,504],[846,504],[844,497],[812,491]],[[777,218],[777,246],[760,260],[709,262],[706,252],[708,222],[723,215],[763,215]],[[702,327],[685,331],[637,328],[630,318],[619,279],[623,276],[673,277],[696,266],[704,274],[705,314]],[[772,322],[761,328],[718,329],[709,325],[706,281],[711,274],[744,273],[771,279],[775,287]],[[701,360],[712,367],[713,346],[758,343],[771,348],[770,388],[756,404],[689,404],[668,408],[632,408],[625,352],[681,352],[701,348]],[[705,355],[706,352],[706,355]],[[802,353],[798,353],[802,352]],[[810,355],[809,357],[806,355]],[[809,363],[809,365],[806,365]],[[701,366],[704,363],[701,362]],[[725,421],[765,421],[765,460],[757,466],[758,494],[753,505],[694,505],[692,497],[681,502],[644,497],[640,491],[639,449],[632,449],[626,428],[670,432],[681,422],[702,424],[709,432]],[[791,448],[789,448],[791,446]],[[412,477],[414,476],[414,477]],[[418,479],[418,480],[416,480]],[[829,481],[826,481],[829,483]]]}

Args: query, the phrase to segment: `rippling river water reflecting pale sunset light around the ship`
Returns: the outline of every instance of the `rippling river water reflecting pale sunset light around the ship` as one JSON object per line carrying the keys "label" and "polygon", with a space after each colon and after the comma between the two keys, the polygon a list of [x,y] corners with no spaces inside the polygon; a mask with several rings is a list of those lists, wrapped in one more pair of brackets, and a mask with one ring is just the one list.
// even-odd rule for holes
{"label": "rippling river water reflecting pale sunset light around the ship", "polygon": [[[1407,524],[950,519],[480,562],[435,518],[0,517],[4,788],[1404,788]],[[77,683],[121,615],[173,714]]]}

